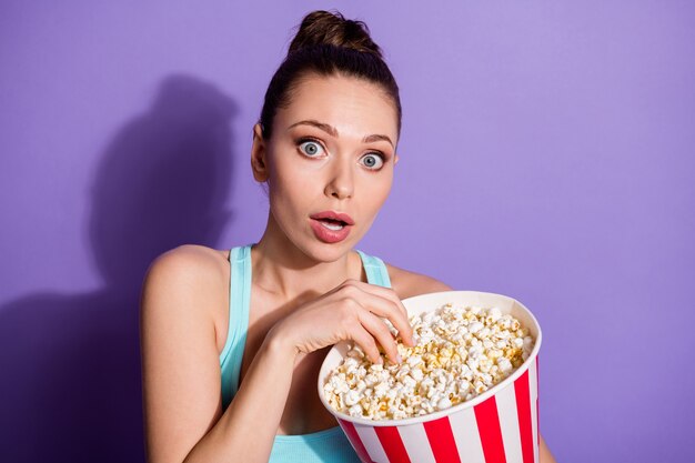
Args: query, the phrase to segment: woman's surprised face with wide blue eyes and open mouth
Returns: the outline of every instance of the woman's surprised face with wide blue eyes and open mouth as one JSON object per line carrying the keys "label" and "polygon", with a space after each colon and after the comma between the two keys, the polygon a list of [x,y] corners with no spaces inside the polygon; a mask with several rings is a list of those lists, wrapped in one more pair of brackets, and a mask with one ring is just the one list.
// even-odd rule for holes
{"label": "woman's surprised face with wide blue eyes and open mouth", "polygon": [[315,260],[344,255],[389,195],[396,137],[395,108],[379,87],[305,79],[278,110],[263,150],[276,229]]}

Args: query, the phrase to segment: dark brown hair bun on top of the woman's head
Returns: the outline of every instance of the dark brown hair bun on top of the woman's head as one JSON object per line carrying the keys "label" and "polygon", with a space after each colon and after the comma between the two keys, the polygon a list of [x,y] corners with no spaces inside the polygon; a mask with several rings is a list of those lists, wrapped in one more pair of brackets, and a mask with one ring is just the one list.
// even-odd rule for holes
{"label": "dark brown hair bun on top of the woman's head", "polygon": [[318,10],[306,14],[290,44],[288,54],[321,44],[373,53],[383,59],[381,49],[370,37],[367,26],[362,21],[345,19],[338,11]]}

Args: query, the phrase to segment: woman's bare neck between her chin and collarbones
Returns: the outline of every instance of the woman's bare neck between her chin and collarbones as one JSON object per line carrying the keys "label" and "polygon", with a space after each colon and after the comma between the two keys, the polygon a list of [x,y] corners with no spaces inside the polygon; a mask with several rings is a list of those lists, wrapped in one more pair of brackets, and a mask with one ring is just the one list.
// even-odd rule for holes
{"label": "woman's bare neck between her chin and collarbones", "polygon": [[359,278],[362,265],[359,255],[350,251],[332,262],[306,255],[280,230],[272,214],[251,258],[254,284],[285,300],[324,294],[350,278]]}

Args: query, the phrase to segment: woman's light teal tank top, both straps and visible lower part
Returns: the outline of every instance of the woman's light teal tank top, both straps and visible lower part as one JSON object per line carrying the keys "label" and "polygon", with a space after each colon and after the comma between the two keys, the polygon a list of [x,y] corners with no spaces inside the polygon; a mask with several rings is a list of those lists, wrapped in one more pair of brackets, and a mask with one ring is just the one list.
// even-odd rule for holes
{"label": "woman's light teal tank top, both straps and visible lower part", "polygon": [[[384,262],[357,251],[371,284],[391,288]],[[226,410],[239,390],[239,374],[251,300],[251,245],[233,248],[230,252],[230,308],[226,342],[220,354],[222,371],[222,409]],[[276,435],[269,463],[352,463],[360,462],[340,426],[310,434]]]}

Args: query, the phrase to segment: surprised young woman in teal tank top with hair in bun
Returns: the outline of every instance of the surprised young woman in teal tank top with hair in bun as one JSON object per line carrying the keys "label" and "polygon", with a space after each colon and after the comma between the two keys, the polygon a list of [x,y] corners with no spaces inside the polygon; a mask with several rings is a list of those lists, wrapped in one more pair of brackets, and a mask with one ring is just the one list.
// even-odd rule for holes
{"label": "surprised young woman in teal tank top with hair in bun", "polygon": [[[253,245],[150,266],[141,338],[151,462],[359,461],[316,391],[328,350],[412,345],[402,299],[447,285],[354,250],[389,195],[399,88],[362,22],[308,14],[253,128],[270,211]],[[552,461],[545,453],[545,461]]]}

